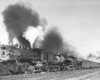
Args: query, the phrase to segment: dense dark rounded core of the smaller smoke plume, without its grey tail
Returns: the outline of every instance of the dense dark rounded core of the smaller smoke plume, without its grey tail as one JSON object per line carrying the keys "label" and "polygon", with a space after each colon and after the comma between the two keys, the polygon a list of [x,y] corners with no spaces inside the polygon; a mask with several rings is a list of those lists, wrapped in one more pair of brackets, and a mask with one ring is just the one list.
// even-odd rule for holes
{"label": "dense dark rounded core of the smaller smoke plume, without its grey tail", "polygon": [[50,53],[58,53],[61,51],[62,46],[63,40],[58,29],[56,27],[51,28],[44,36],[41,48]]}

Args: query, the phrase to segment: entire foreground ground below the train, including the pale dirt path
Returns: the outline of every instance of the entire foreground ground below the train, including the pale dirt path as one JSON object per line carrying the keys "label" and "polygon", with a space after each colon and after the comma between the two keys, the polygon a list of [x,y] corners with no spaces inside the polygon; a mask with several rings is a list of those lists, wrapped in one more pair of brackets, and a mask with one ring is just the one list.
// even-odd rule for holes
{"label": "entire foreground ground below the train, including the pale dirt path", "polygon": [[0,76],[0,80],[99,80],[100,68],[37,74]]}

